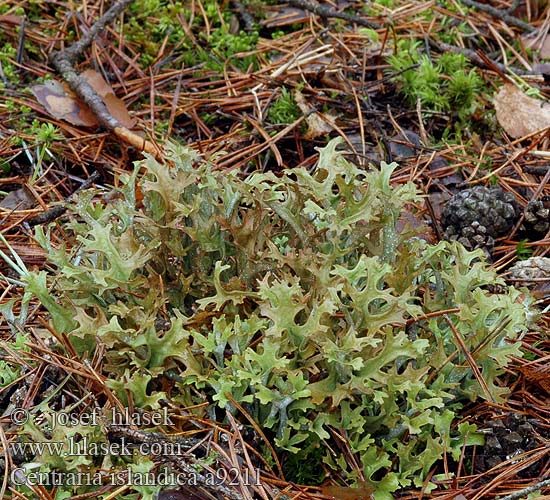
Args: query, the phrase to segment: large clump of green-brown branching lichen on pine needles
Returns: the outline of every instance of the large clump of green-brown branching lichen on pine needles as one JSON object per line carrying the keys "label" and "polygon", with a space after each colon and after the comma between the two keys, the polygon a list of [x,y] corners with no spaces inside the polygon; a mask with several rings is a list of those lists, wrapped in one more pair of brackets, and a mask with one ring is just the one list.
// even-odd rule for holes
{"label": "large clump of green-brown branching lichen on pine needles", "polygon": [[311,456],[353,480],[330,431],[343,432],[375,497],[390,498],[476,442],[457,411],[502,401],[526,313],[513,288],[483,288],[498,279],[480,252],[401,229],[419,195],[391,186],[395,164],[365,171],[338,145],[312,171],[243,179],[170,144],[168,165],[146,158],[108,203],[80,195],[74,250],[39,232],[56,271],[23,279],[78,354],[104,350],[121,401],[158,408],[170,371],[174,404],[236,412],[235,400],[281,453],[320,446]]}

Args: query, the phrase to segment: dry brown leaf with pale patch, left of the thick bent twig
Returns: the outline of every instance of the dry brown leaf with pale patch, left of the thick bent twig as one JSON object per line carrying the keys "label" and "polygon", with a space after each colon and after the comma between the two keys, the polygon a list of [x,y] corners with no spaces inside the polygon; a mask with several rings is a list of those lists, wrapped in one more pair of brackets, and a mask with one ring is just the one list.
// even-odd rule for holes
{"label": "dry brown leaf with pale patch, left of the thick bent twig", "polygon": [[56,80],[33,85],[31,92],[55,118],[83,127],[95,127],[99,123],[90,108]]}

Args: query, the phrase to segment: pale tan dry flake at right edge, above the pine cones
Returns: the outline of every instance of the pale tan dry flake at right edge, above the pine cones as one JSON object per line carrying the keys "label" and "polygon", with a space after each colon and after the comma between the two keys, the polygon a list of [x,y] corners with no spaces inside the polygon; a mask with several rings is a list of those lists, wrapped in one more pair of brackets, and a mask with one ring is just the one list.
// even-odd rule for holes
{"label": "pale tan dry flake at right edge, above the pine cones", "polygon": [[513,84],[505,84],[493,102],[498,122],[515,139],[550,127],[550,103],[525,95]]}

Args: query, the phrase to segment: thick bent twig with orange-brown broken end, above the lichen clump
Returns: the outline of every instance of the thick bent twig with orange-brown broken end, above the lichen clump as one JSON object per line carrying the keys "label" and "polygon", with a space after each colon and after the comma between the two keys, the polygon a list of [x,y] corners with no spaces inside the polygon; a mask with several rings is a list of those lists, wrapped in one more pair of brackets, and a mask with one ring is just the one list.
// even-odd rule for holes
{"label": "thick bent twig with orange-brown broken end, above the lichen clump", "polygon": [[65,50],[53,52],[50,60],[71,90],[95,113],[99,123],[103,127],[112,131],[117,137],[140,151],[157,155],[159,151],[154,144],[126,128],[109,113],[101,97],[77,73],[74,67],[76,59],[88,48],[93,39],[104,31],[107,24],[120,15],[131,2],[132,0],[119,0],[113,4],[79,41]]}

